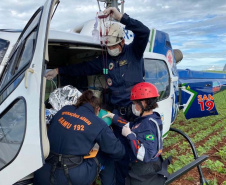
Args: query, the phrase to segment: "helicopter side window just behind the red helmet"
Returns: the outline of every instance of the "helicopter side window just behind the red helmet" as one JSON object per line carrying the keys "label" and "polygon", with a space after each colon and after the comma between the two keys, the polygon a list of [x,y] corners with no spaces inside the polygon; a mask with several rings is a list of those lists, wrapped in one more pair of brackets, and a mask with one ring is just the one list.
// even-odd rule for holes
{"label": "helicopter side window just behind the red helmet", "polygon": [[159,101],[170,95],[170,76],[167,65],[161,60],[144,59],[145,81],[154,84],[159,91]]}

